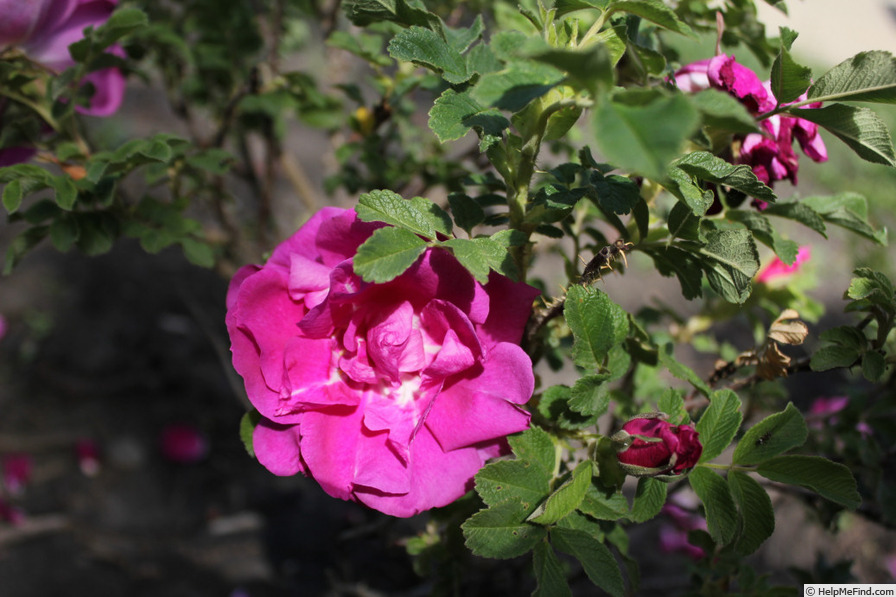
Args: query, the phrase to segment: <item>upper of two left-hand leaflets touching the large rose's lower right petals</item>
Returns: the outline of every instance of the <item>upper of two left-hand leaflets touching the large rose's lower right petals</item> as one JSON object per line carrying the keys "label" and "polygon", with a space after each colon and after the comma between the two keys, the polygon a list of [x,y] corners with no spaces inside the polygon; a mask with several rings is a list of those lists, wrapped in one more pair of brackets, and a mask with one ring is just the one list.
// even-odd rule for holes
{"label": "upper of two left-hand leaflets touching the large rose's lower right petals", "polygon": [[513,499],[531,512],[550,492],[551,477],[530,460],[501,460],[476,473],[476,493],[489,506]]}

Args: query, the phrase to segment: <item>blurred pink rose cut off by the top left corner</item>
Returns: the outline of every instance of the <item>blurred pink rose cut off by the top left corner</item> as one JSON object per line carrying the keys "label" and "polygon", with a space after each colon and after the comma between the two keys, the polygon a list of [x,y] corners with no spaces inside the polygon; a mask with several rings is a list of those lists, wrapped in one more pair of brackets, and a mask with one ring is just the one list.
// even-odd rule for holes
{"label": "blurred pink rose cut off by the top left corner", "polygon": [[[61,72],[75,61],[68,47],[84,38],[86,27],[105,23],[118,0],[0,0],[0,50],[21,48],[32,60]],[[121,49],[110,51],[122,55]],[[118,110],[124,97],[124,76],[117,68],[87,75],[96,89],[85,114],[108,116]]]}

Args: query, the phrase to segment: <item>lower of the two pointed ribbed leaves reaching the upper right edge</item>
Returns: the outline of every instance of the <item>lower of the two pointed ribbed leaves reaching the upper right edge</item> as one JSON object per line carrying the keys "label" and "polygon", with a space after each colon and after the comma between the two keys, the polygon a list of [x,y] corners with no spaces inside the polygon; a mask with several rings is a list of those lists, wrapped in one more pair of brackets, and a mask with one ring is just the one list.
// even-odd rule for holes
{"label": "lower of the two pointed ribbed leaves reaching the upper right edge", "polygon": [[831,104],[823,108],[795,108],[788,112],[824,127],[863,160],[896,167],[890,130],[868,108]]}

